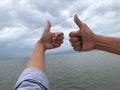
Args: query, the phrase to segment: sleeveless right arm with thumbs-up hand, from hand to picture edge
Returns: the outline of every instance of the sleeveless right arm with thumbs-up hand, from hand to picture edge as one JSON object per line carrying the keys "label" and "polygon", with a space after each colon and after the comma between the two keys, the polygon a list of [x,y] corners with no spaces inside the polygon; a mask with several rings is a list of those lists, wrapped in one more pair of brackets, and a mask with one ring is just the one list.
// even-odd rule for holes
{"label": "sleeveless right arm with thumbs-up hand, from hand to picture edge", "polygon": [[97,49],[120,55],[120,38],[96,35],[77,15],[74,16],[74,21],[79,27],[78,31],[69,33],[74,50],[89,51]]}

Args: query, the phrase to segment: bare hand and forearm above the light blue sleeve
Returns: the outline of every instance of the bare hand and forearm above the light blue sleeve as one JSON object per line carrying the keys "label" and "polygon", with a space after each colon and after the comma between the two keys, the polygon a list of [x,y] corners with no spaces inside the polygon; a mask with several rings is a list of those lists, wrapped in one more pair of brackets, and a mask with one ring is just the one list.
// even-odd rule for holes
{"label": "bare hand and forearm above the light blue sleeve", "polygon": [[61,46],[63,43],[62,32],[50,32],[51,22],[47,21],[47,26],[41,38],[35,45],[33,54],[27,63],[26,68],[38,68],[45,71],[45,51],[48,49],[54,49]]}

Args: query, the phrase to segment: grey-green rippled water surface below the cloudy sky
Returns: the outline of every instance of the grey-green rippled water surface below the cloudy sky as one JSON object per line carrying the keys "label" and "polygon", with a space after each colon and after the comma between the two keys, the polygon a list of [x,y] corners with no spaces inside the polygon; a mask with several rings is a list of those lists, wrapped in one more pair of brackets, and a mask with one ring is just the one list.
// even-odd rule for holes
{"label": "grey-green rippled water surface below the cloudy sky", "polygon": [[[0,60],[0,90],[13,90],[27,59]],[[120,90],[120,56],[87,52],[46,57],[51,90]]]}

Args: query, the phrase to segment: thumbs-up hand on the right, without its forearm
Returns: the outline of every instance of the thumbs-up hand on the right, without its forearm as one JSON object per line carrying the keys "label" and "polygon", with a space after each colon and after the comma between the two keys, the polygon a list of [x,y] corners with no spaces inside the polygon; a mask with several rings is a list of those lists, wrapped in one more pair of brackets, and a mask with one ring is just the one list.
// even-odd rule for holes
{"label": "thumbs-up hand on the right, without its forearm", "polygon": [[69,33],[70,42],[76,51],[89,51],[95,48],[95,34],[91,29],[83,23],[77,15],[74,16],[74,21],[79,27],[78,31],[72,31]]}

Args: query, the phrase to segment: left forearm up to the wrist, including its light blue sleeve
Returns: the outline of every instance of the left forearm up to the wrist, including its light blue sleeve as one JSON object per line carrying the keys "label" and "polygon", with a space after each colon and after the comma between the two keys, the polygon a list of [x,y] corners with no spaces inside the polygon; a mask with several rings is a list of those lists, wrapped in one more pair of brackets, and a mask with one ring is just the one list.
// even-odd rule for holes
{"label": "left forearm up to the wrist, including its light blue sleeve", "polygon": [[48,79],[43,72],[45,71],[44,52],[44,45],[41,42],[37,42],[26,69],[15,85],[15,90],[30,88],[33,90],[49,90]]}

